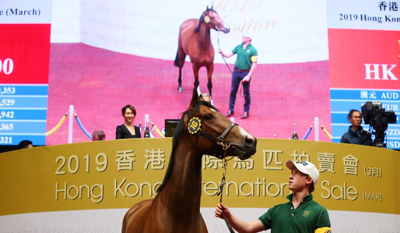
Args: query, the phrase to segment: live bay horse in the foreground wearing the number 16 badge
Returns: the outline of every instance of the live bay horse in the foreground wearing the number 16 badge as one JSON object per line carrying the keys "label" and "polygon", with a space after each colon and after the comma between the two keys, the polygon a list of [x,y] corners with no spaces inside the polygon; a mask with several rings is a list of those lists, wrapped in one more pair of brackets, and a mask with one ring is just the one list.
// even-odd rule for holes
{"label": "live bay horse in the foreground wearing the number 16 badge", "polygon": [[174,130],[170,162],[158,193],[126,212],[122,233],[208,232],[200,213],[203,154],[244,160],[256,153],[256,144],[253,135],[204,101],[194,87],[189,109]]}

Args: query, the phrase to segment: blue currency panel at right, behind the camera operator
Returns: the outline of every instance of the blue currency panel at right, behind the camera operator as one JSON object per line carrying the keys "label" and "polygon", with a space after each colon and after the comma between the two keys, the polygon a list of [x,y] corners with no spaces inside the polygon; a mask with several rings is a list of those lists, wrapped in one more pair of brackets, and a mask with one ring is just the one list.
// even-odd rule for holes
{"label": "blue currency panel at right, behind the camera operator", "polygon": [[[389,149],[400,149],[400,90],[372,90],[330,88],[330,109],[332,118],[332,141],[340,142],[342,135],[348,131],[350,125],[348,112],[356,109],[361,112],[361,106],[368,101],[379,101],[386,111],[393,111],[397,115],[396,124],[388,124],[386,146]],[[369,129],[364,119],[362,127]],[[372,140],[374,135],[372,135]]]}

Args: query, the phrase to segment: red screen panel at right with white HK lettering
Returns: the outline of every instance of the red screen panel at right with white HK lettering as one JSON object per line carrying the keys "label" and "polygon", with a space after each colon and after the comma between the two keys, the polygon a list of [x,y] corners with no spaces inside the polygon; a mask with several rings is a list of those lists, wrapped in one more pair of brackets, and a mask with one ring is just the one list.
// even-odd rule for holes
{"label": "red screen panel at right with white HK lettering", "polygon": [[328,29],[330,88],[400,88],[400,31]]}

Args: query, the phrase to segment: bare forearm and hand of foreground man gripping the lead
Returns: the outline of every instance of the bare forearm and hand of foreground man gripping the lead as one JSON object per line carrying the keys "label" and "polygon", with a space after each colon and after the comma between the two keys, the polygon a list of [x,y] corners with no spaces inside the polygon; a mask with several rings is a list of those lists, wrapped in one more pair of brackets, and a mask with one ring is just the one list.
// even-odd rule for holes
{"label": "bare forearm and hand of foreground man gripping the lead", "polygon": [[224,219],[222,216],[222,211],[224,211],[225,217],[229,220],[230,225],[232,225],[232,227],[239,233],[255,233],[265,231],[264,225],[260,220],[257,219],[250,223],[240,220],[233,216],[228,207],[222,203],[217,204],[217,207],[215,208],[215,217]]}

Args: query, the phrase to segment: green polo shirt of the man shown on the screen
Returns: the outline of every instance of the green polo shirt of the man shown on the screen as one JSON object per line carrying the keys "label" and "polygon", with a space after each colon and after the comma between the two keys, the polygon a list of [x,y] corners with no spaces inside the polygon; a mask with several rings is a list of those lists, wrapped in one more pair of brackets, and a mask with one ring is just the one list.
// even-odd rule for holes
{"label": "green polo shirt of the man shown on the screen", "polygon": [[238,59],[235,62],[235,67],[239,70],[250,70],[252,62],[257,62],[257,50],[249,44],[243,49],[243,43],[239,44],[232,50],[233,54],[238,54]]}

